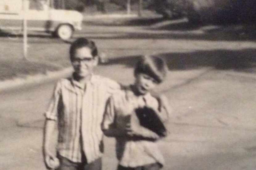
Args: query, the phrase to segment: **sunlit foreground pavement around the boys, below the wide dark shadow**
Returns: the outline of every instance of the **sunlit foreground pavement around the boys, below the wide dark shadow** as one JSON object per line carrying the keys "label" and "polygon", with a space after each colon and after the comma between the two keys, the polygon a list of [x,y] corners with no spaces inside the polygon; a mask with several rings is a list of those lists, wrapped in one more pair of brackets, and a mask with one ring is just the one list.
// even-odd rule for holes
{"label": "sunlit foreground pavement around the boys, below the wide dark shadow", "polygon": [[[113,73],[118,70],[118,73]],[[98,73],[132,82],[131,68],[101,66]],[[255,78],[212,68],[172,71],[159,87],[174,114],[170,136],[161,142],[169,169],[256,168]],[[0,169],[41,169],[42,113],[52,83],[1,94]],[[114,143],[105,139],[104,170],[115,167]]]}

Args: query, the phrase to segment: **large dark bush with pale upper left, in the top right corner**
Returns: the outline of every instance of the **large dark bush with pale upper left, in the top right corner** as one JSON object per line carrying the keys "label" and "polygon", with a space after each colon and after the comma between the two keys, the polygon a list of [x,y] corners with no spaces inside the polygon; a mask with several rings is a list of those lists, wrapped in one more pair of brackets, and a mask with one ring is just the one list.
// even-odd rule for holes
{"label": "large dark bush with pale upper left, in the top right corner", "polygon": [[255,22],[255,15],[255,0],[192,0],[187,10],[192,22],[217,24]]}

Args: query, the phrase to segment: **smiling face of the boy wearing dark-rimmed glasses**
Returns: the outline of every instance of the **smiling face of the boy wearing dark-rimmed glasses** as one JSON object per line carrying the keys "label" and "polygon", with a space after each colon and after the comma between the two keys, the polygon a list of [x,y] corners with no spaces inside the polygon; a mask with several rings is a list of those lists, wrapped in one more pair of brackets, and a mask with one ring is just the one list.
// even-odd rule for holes
{"label": "smiling face of the boy wearing dark-rimmed glasses", "polygon": [[71,63],[78,76],[86,77],[93,72],[93,67],[96,66],[98,62],[97,57],[93,58],[91,49],[82,47],[76,49]]}

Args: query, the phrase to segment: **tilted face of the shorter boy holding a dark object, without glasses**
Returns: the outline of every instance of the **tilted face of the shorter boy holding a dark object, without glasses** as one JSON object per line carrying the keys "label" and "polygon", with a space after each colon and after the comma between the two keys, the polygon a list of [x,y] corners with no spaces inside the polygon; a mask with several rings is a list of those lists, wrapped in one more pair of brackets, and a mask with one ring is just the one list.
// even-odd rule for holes
{"label": "tilted face of the shorter boy holding a dark object, without glasses", "polygon": [[135,88],[137,89],[138,93],[146,94],[148,91],[155,88],[158,85],[157,81],[153,77],[150,77],[144,73],[138,73],[135,76]]}

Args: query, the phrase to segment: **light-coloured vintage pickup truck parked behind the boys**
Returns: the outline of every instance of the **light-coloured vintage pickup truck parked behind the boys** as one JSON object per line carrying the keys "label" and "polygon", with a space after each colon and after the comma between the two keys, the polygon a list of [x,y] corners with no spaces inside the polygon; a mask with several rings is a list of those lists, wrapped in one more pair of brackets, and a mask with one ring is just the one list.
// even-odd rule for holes
{"label": "light-coloured vintage pickup truck parked behind the boys", "polygon": [[63,40],[82,29],[81,13],[53,6],[52,0],[0,0],[0,30],[22,30],[24,17],[28,31],[44,31]]}

